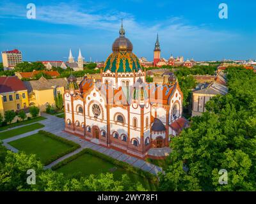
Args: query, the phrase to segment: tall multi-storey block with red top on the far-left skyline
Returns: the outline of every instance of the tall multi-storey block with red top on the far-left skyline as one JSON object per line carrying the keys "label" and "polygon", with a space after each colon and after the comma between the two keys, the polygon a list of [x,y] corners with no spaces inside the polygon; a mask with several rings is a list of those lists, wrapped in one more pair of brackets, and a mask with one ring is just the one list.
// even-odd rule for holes
{"label": "tall multi-storey block with red top on the far-left skyline", "polygon": [[22,54],[19,50],[14,49],[2,52],[3,67],[13,69],[16,64],[22,62]]}

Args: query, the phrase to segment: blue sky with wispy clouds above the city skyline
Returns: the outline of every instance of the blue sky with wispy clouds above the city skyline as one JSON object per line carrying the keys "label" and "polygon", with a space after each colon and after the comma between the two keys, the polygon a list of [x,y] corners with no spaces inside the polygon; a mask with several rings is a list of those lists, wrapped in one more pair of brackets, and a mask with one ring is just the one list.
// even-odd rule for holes
{"label": "blue sky with wispy clouds above the city skyline", "polygon": [[[26,18],[34,3],[36,19]],[[220,19],[220,3],[228,19]],[[125,36],[138,57],[153,58],[159,33],[161,57],[200,60],[256,59],[254,0],[5,1],[0,3],[0,50],[18,48],[24,61],[66,61],[69,48],[86,61],[104,61],[124,18]]]}

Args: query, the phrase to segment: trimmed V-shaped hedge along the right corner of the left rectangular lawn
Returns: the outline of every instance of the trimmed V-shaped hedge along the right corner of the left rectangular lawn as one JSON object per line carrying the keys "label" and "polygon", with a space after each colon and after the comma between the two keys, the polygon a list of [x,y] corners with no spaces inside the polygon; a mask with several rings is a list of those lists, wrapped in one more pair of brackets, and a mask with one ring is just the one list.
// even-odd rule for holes
{"label": "trimmed V-shaped hedge along the right corner of the left rectangular lawn", "polygon": [[47,136],[49,138],[52,138],[54,140],[58,140],[58,141],[60,141],[62,143],[65,143],[65,144],[69,145],[70,147],[72,147],[70,149],[65,150],[64,152],[60,152],[59,154],[55,154],[54,156],[51,156],[49,159],[47,159],[47,161],[45,161],[45,163],[44,163],[45,165],[51,164],[56,159],[66,155],[66,154],[68,154],[70,152],[74,152],[74,150],[76,150],[76,149],[81,147],[81,145],[79,145],[79,144],[77,144],[75,142],[72,142],[72,141],[67,140],[65,138],[61,138],[60,136],[53,135],[52,133],[49,133],[49,132],[46,132],[46,131],[43,131],[43,130],[38,131],[38,133],[40,133],[41,135]]}

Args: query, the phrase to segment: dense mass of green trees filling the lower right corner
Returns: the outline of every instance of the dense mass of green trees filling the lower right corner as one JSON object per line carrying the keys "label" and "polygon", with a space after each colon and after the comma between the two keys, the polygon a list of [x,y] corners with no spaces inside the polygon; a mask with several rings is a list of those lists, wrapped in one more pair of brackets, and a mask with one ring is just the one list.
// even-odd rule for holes
{"label": "dense mass of green trees filling the lower right corner", "polygon": [[[256,190],[256,75],[242,68],[227,73],[228,94],[212,98],[208,111],[173,138],[159,189]],[[221,169],[228,172],[227,185],[219,184]]]}

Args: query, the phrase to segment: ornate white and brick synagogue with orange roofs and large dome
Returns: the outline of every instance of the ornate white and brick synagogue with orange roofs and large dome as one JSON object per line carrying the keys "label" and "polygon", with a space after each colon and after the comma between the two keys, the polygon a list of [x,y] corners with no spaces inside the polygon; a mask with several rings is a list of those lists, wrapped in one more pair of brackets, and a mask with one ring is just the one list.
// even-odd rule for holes
{"label": "ornate white and brick synagogue with orange roofs and large dome", "polygon": [[[145,82],[123,25],[119,34],[100,72],[100,88],[86,77],[79,85],[74,76],[68,78],[65,130],[146,157],[150,148],[169,147],[169,136],[183,128],[183,95],[177,81],[153,86]],[[158,36],[155,52],[160,52]]]}

